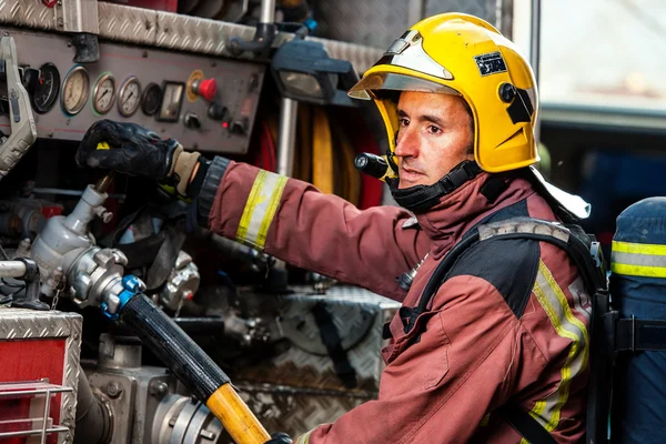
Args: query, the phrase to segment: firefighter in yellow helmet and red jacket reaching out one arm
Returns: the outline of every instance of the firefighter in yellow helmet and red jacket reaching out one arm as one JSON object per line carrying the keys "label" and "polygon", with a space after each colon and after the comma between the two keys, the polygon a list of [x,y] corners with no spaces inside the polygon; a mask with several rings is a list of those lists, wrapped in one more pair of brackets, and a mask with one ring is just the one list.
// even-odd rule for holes
{"label": "firefighter in yellow helmet and red jacket reaching out one arm", "polygon": [[[425,312],[414,311],[436,265],[480,222],[575,221],[531,168],[538,102],[529,64],[490,23],[438,14],[397,39],[350,95],[373,100],[384,119],[397,172],[387,182],[402,208],[360,211],[309,183],[184,152],[132,123],[93,124],[77,161],[170,183],[193,201],[200,225],[403,304],[387,329],[379,398],[297,443],[518,443],[525,425],[549,442],[578,442],[589,320],[563,250],[483,243],[456,262]],[[424,258],[403,290],[395,278]]]}

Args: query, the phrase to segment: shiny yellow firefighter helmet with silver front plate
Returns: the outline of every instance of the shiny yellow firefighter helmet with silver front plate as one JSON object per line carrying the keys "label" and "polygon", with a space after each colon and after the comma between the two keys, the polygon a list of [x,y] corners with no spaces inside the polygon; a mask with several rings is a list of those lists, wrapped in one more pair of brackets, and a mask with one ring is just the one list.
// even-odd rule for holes
{"label": "shiny yellow firefighter helmet with silver front plate", "polygon": [[474,158],[484,171],[515,170],[539,160],[532,68],[508,39],[482,19],[443,13],[420,21],[349,91],[352,98],[374,100],[395,155],[396,103],[382,93],[391,90],[465,99],[474,119]]}

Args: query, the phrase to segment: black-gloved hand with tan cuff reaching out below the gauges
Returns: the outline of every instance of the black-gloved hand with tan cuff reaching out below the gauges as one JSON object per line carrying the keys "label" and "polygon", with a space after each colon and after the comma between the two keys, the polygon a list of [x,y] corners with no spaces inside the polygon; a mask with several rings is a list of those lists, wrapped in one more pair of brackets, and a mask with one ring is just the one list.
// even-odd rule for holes
{"label": "black-gloved hand with tan cuff reaching out below the gauges", "polygon": [[163,140],[135,123],[100,120],[83,135],[75,159],[79,167],[152,178],[185,195],[199,157],[198,152],[183,151],[176,140]]}

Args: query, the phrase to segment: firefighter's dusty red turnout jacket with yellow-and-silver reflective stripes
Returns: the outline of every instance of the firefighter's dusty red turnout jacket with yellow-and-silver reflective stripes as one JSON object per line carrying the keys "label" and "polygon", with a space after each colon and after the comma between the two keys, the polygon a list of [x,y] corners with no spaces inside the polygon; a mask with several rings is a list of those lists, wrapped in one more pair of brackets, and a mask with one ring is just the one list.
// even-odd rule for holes
{"label": "firefighter's dusty red turnout jacket with yellow-and-silver reflective stripes", "polygon": [[[198,208],[200,223],[221,235],[412,307],[437,263],[475,224],[556,220],[523,179],[488,202],[481,193],[487,179],[477,175],[414,219],[395,206],[361,211],[309,183],[229,162],[209,169]],[[558,443],[582,440],[591,306],[575,265],[545,242],[481,245],[458,260],[420,329],[405,334],[400,313],[393,319],[379,398],[297,443],[518,443],[493,413],[506,403],[529,412]],[[424,256],[405,292],[395,276]]]}

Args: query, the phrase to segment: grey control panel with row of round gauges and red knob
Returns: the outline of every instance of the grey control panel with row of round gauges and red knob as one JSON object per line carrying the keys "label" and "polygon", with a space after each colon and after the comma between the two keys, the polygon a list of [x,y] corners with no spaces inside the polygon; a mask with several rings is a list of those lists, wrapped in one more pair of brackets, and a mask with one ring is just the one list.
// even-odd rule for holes
{"label": "grey control panel with row of round gauges and red knob", "polygon": [[[100,42],[99,62],[80,65],[69,36],[0,32],[14,38],[38,138],[80,141],[94,121],[111,119],[186,149],[248,152],[265,64]],[[4,94],[0,85],[0,100]],[[7,129],[8,115],[0,115]]]}

